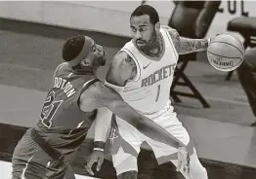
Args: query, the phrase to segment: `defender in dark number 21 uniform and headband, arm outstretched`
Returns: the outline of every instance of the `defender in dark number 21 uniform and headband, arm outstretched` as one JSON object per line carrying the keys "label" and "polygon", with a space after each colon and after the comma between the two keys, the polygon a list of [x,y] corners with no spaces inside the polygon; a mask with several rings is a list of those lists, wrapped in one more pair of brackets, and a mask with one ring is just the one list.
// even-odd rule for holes
{"label": "defender in dark number 21 uniform and headband, arm outstretched", "polygon": [[64,178],[68,168],[65,157],[81,145],[98,109],[104,107],[150,138],[177,145],[172,135],[138,114],[115,90],[96,79],[97,68],[106,63],[106,57],[93,39],[68,39],[63,58],[66,62],[55,71],[38,124],[25,132],[14,151],[13,179]]}

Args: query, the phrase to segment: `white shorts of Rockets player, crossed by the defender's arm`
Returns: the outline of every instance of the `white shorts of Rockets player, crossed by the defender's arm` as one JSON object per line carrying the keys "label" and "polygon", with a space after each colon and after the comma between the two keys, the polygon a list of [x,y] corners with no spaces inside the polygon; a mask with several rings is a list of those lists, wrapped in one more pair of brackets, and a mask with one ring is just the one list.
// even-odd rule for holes
{"label": "white shorts of Rockets player, crossed by the defender's arm", "polygon": [[[169,102],[157,113],[145,116],[157,125],[165,128],[185,145],[189,144],[189,133],[177,119],[176,113],[173,112],[173,107]],[[147,141],[151,147],[158,163],[166,162],[166,160],[170,161],[172,157],[174,157],[174,154],[177,153],[176,148],[150,139],[138,131],[134,126],[129,125],[118,117],[116,117],[116,124],[118,129],[116,128],[116,125],[112,125],[107,141],[112,146],[112,161],[117,175],[130,170],[138,171],[137,157],[140,153],[141,144],[144,141]]]}

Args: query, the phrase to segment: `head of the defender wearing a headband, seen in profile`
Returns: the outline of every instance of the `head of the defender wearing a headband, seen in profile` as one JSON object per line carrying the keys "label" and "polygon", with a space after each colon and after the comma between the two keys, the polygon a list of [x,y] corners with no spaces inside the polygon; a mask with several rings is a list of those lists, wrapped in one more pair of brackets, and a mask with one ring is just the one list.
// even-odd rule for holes
{"label": "head of the defender wearing a headband, seen in profile", "polygon": [[63,58],[77,70],[96,70],[106,63],[103,47],[82,35],[71,37],[64,43]]}

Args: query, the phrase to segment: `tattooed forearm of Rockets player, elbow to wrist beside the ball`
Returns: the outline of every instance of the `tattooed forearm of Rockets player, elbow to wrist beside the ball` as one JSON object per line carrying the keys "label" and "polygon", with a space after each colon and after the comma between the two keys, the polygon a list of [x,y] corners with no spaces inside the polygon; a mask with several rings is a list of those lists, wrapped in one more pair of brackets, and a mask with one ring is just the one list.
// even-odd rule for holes
{"label": "tattooed forearm of Rockets player, elbow to wrist beside the ball", "polygon": [[206,51],[208,48],[208,39],[190,39],[180,37],[179,54],[190,54]]}

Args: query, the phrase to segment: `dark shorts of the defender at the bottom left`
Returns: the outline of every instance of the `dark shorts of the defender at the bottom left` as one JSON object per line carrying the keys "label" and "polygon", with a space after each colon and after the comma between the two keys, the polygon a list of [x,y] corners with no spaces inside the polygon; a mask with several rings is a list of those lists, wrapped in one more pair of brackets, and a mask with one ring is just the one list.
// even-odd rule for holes
{"label": "dark shorts of the defender at the bottom left", "polygon": [[15,148],[12,179],[74,179],[67,161],[64,158],[57,161],[49,157],[31,139],[30,130],[25,132]]}

